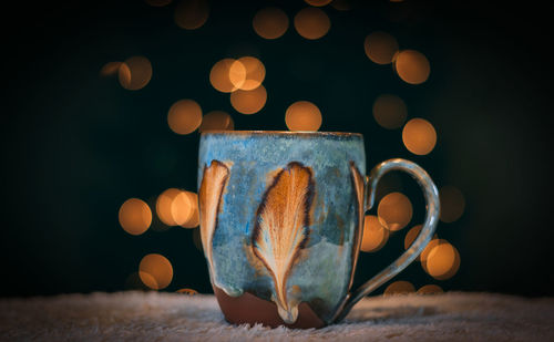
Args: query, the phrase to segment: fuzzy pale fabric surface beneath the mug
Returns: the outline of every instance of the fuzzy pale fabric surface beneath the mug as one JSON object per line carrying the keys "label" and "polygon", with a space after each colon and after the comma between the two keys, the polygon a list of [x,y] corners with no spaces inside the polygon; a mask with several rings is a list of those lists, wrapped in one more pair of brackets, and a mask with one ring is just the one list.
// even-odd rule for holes
{"label": "fuzzy pale fabric surface beneath the mug", "polygon": [[6,341],[554,341],[554,299],[490,293],[372,297],[315,330],[225,322],[213,296],[163,292],[0,300]]}

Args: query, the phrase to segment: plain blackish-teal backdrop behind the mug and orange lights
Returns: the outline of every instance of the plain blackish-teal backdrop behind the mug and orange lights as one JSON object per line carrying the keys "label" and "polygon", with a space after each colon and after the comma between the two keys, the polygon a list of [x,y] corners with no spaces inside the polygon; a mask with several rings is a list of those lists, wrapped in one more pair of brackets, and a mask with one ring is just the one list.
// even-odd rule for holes
{"label": "plain blackish-teal backdrop behind the mug and orange lights", "polygon": [[[168,187],[196,190],[198,134],[176,135],[166,122],[181,99],[197,101],[205,113],[230,113],[237,129],[286,129],[286,107],[311,101],[322,112],[320,131],[363,133],[368,169],[406,157],[439,187],[460,188],[464,215],[438,228],[460,251],[459,272],[435,281],[416,262],[397,279],[416,288],[554,294],[546,9],[471,1],[355,4],[346,12],[325,7],[331,29],[316,41],[293,25],[275,41],[252,29],[258,9],[278,6],[291,21],[307,6],[302,1],[212,1],[206,24],[193,31],[175,24],[174,3],[22,2],[3,9],[1,296],[123,290],[150,252],[174,267],[168,291],[211,291],[193,230],[166,229],[155,219],[135,237],[117,221],[127,198],[152,205]],[[410,85],[390,65],[369,61],[363,39],[376,30],[394,35],[401,49],[423,52],[429,80]],[[152,62],[144,89],[132,92],[100,77],[106,62],[132,55]],[[255,115],[235,112],[208,81],[215,62],[240,55],[259,58],[267,71],[268,100]],[[412,155],[401,129],[375,122],[371,106],[382,93],[402,97],[409,118],[433,123],[431,154]],[[421,222],[424,206],[413,182],[392,175],[380,193],[391,189],[414,205],[409,227]],[[407,230],[362,255],[357,284],[393,260]]]}

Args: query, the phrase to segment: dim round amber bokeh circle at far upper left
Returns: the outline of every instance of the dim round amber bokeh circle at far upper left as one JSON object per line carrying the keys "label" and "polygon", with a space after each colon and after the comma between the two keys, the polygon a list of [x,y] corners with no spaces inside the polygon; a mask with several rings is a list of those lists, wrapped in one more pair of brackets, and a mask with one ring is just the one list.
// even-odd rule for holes
{"label": "dim round amber bokeh circle at far upper left", "polygon": [[117,70],[120,84],[126,90],[137,91],[146,86],[152,79],[152,64],[142,55],[126,59]]}

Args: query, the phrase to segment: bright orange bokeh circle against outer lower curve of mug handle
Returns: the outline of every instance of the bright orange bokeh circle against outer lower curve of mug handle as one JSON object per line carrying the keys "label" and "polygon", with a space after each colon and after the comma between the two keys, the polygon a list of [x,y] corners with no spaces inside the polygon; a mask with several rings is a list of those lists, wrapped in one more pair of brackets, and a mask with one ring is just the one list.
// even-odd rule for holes
{"label": "bright orange bokeh circle against outer lower curve of mug handle", "polygon": [[460,268],[460,253],[449,242],[434,246],[425,260],[425,271],[438,280],[452,278]]}

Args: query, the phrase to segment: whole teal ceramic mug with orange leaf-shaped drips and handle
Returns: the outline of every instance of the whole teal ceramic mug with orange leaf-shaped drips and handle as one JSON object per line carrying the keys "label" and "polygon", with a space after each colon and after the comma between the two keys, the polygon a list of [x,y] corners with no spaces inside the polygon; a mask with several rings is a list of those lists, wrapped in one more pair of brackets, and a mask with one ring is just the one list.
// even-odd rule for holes
{"label": "whole teal ceramic mug with orange leaf-shaped drips and handle", "polygon": [[[212,131],[198,158],[201,237],[228,322],[320,328],[411,263],[433,236],[439,197],[429,175],[404,159],[366,177],[357,133]],[[423,228],[388,268],[350,292],[380,177],[400,169],[420,184]]]}

